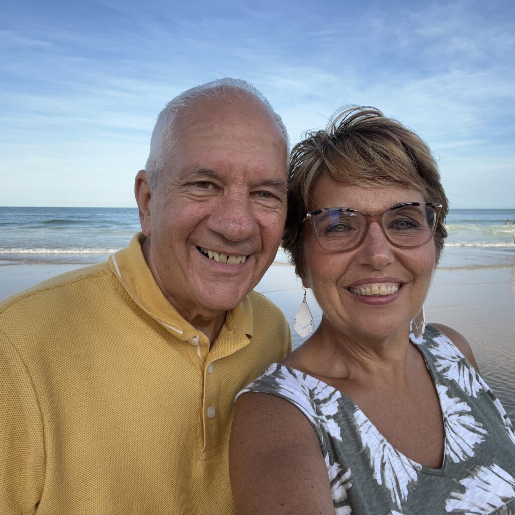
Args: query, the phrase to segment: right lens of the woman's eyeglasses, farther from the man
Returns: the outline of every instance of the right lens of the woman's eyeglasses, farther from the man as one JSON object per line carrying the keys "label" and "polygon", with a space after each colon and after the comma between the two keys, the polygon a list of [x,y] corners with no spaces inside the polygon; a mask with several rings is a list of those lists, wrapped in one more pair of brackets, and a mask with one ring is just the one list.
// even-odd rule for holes
{"label": "right lens of the woman's eyeglasses, farther from the man", "polygon": [[435,227],[433,208],[405,205],[383,215],[383,228],[394,245],[418,247],[430,241]]}

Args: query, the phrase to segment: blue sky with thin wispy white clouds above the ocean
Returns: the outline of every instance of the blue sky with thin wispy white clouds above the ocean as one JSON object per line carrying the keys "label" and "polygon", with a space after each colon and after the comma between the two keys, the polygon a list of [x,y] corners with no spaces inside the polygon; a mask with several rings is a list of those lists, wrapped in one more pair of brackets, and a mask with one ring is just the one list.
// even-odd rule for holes
{"label": "blue sky with thin wispy white clouds above the ocean", "polygon": [[451,208],[515,208],[515,4],[38,0],[0,6],[0,205],[135,207],[157,115],[221,77],[290,140],[371,105],[431,147]]}

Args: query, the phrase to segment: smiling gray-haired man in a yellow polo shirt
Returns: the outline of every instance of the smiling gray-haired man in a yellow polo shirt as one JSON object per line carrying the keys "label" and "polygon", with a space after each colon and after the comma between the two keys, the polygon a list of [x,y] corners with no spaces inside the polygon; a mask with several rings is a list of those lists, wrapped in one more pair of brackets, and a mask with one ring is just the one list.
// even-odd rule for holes
{"label": "smiling gray-haired man in a yellow polo shirt", "polygon": [[281,239],[286,167],[253,87],[188,90],[136,176],[143,233],[0,305],[0,513],[233,512],[235,394],[290,350],[251,291]]}

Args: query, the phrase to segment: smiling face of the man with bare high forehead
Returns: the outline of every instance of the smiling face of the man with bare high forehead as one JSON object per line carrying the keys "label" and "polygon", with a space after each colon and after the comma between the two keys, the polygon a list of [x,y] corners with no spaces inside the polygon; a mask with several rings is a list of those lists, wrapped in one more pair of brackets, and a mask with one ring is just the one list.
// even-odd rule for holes
{"label": "smiling face of the man with bare high forehead", "polygon": [[191,321],[235,307],[272,263],[287,150],[277,122],[248,97],[202,100],[178,113],[176,129],[142,228],[152,273]]}

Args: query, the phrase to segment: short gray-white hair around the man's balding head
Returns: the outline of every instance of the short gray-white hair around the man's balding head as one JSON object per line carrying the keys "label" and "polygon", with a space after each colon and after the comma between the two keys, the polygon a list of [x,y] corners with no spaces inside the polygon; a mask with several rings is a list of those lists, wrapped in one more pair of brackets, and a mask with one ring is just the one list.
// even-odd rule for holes
{"label": "short gray-white hair around the man's balding head", "polygon": [[[272,109],[268,100],[257,88],[245,80],[232,79],[230,77],[213,80],[183,91],[170,100],[159,113],[156,126],[152,131],[150,153],[145,165],[147,181],[151,190],[156,186],[159,173],[174,153],[174,147],[177,143],[177,127],[175,122],[179,110],[183,107],[192,106],[203,98],[228,98],[230,95],[237,95],[237,90],[241,90],[242,93],[250,93],[255,98],[255,103],[261,104],[273,116],[281,128],[286,152],[289,154],[290,145],[286,127],[281,117]],[[239,96],[243,97],[242,93]],[[285,167],[287,168],[287,166],[288,163],[286,162]]]}

